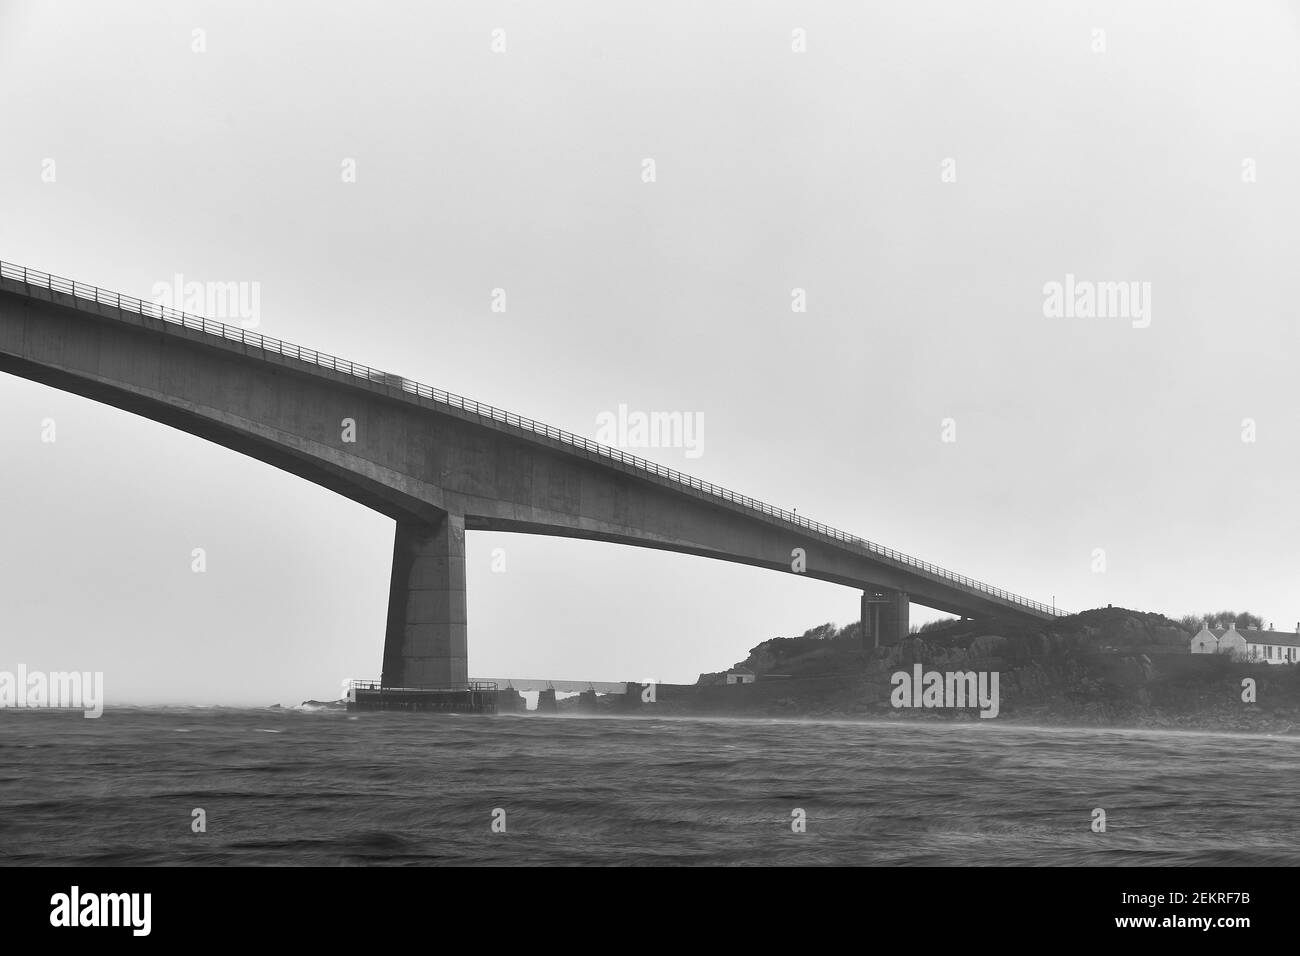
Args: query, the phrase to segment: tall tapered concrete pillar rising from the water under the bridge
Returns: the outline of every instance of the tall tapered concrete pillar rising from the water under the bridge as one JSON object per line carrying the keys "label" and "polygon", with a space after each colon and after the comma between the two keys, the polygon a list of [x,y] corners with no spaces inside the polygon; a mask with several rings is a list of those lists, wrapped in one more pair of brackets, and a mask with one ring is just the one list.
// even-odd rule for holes
{"label": "tall tapered concrete pillar rising from the water under the bridge", "polygon": [[384,637],[385,687],[447,687],[469,680],[465,519],[398,522]]}

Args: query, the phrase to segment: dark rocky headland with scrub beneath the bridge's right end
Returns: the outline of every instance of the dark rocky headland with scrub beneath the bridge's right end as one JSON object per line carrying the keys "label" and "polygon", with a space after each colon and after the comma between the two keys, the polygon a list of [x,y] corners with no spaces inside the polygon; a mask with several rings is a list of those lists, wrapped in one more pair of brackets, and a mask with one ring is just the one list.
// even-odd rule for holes
{"label": "dark rocky headland with scrub beneath the bridge's right end", "polygon": [[[1226,617],[1223,617],[1226,615]],[[1223,611],[1212,619],[1258,622]],[[996,671],[1000,719],[1036,723],[1199,727],[1300,732],[1300,666],[1191,654],[1200,630],[1162,614],[1098,607],[1041,624],[946,620],[901,644],[863,648],[857,623],[775,637],[736,663],[758,683],[731,700],[754,715],[976,719],[972,711],[893,709],[890,678],[914,663],[940,671]],[[714,700],[725,671],[702,674]],[[1243,680],[1256,700],[1243,700]],[[689,708],[689,702],[682,706]]]}

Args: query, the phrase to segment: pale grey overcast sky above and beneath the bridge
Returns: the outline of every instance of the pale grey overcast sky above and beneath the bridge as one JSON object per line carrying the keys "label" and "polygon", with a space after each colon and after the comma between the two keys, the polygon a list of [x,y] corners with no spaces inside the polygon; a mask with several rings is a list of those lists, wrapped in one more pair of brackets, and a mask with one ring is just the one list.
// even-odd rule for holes
{"label": "pale grey overcast sky above and beneath the bridge", "polygon": [[[266,334],[593,438],[699,414],[699,458],[642,454],[998,587],[1291,630],[1296,9],[4,0],[0,258],[257,282]],[[1045,315],[1067,274],[1149,311]],[[10,376],[0,464],[0,670],[109,705],[378,675],[389,519]],[[468,541],[476,676],[689,682],[858,613]]]}

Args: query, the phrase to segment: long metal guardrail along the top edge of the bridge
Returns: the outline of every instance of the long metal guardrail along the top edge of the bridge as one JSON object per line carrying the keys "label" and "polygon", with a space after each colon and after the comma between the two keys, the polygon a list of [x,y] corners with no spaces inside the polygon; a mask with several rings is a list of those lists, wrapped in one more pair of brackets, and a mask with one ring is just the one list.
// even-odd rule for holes
{"label": "long metal guardrail along the top edge of the bridge", "polygon": [[64,293],[72,295],[74,299],[82,299],[84,302],[94,302],[99,306],[112,306],[118,311],[135,312],[138,315],[148,316],[151,319],[161,319],[166,323],[173,323],[176,325],[182,325],[187,329],[195,329],[198,332],[205,332],[212,336],[220,336],[222,338],[230,339],[233,342],[239,342],[240,345],[259,349],[264,352],[270,352],[276,355],[283,355],[285,358],[298,359],[299,362],[307,362],[320,368],[329,368],[334,372],[343,372],[358,378],[364,378],[369,382],[377,382],[381,385],[387,385],[389,388],[396,388],[412,395],[417,395],[424,399],[429,399],[438,405],[447,406],[450,408],[458,408],[460,411],[476,415],[481,419],[490,421],[502,423],[519,428],[525,432],[532,432],[533,434],[540,434],[552,441],[559,441],[564,445],[569,445],[575,449],[584,451],[589,458],[604,459],[611,463],[623,464],[633,471],[645,472],[654,475],[655,477],[666,479],[684,488],[699,492],[705,496],[719,498],[727,501],[732,505],[738,505],[749,511],[764,515],[766,518],[772,518],[783,522],[793,528],[800,528],[814,535],[820,535],[822,537],[836,541],[841,545],[848,545],[853,550],[870,554],[876,559],[881,559],[885,563],[893,563],[902,570],[920,572],[923,575],[930,575],[931,578],[940,580],[945,584],[953,584],[974,594],[982,594],[987,597],[996,597],[1008,604],[1018,605],[1020,607],[1027,607],[1030,610],[1039,611],[1040,614],[1050,614],[1054,617],[1065,617],[1066,611],[1060,610],[1052,605],[1045,605],[1041,601],[1032,601],[1020,594],[1011,593],[1010,591],[1004,591],[1002,588],[994,588],[992,584],[985,584],[984,581],[975,580],[974,578],[967,578],[966,575],[959,575],[956,571],[949,571],[945,567],[932,564],[928,561],[922,561],[920,558],[914,558],[910,554],[904,554],[902,551],[896,551],[892,548],[885,548],[878,545],[874,541],[867,541],[864,538],[857,537],[855,535],[849,535],[848,532],[840,531],[838,528],[832,528],[828,524],[822,524],[820,522],[812,522],[802,515],[797,515],[792,511],[785,511],[784,509],[774,507],[766,502],[750,498],[744,494],[737,494],[727,488],[720,488],[719,485],[711,484],[708,481],[701,481],[697,477],[685,475],[673,468],[658,464],[655,462],[649,462],[637,455],[629,455],[618,449],[612,449],[608,445],[601,445],[598,442],[584,438],[582,436],[573,434],[572,432],[566,432],[560,428],[554,428],[542,421],[534,421],[533,419],[524,418],[523,415],[516,415],[514,412],[497,408],[490,405],[484,405],[482,402],[476,402],[463,395],[456,395],[450,392],[443,392],[442,389],[436,389],[429,385],[421,385],[420,382],[413,382],[410,378],[404,378],[399,375],[393,375],[390,372],[382,372],[377,368],[370,368],[369,365],[359,365],[355,362],[348,362],[347,359],[341,359],[334,355],[328,355],[325,352],[318,352],[313,349],[303,349],[302,346],[292,345],[291,342],[283,342],[278,338],[270,338],[269,336],[261,336],[256,332],[250,332],[248,329],[242,329],[237,325],[226,325],[225,323],[213,321],[211,319],[204,319],[202,316],[188,315],[186,312],[178,312],[174,308],[168,308],[160,306],[155,302],[146,302],[143,299],[136,299],[131,295],[122,295],[121,293],[112,293],[98,286],[86,285],[83,282],[75,282],[70,278],[62,278],[60,276],[51,276],[46,272],[38,272],[35,269],[29,269],[23,265],[14,265],[13,263],[6,263],[0,260],[0,276],[4,278],[12,278],[21,281],[27,286],[36,286],[39,289],[49,289],[55,293]]}

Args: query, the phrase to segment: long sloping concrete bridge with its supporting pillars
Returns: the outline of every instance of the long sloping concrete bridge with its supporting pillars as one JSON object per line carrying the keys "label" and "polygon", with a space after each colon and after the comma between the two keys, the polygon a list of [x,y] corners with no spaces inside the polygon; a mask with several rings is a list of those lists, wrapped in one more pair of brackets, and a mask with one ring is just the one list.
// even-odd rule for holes
{"label": "long sloping concrete bridge with its supporting pillars", "polygon": [[862,591],[863,639],[909,602],[1046,620],[1048,605],[540,421],[254,332],[0,263],[0,371],[251,455],[396,522],[385,685],[468,679],[465,532],[614,541]]}

